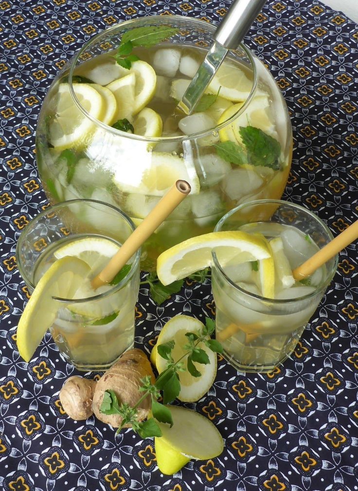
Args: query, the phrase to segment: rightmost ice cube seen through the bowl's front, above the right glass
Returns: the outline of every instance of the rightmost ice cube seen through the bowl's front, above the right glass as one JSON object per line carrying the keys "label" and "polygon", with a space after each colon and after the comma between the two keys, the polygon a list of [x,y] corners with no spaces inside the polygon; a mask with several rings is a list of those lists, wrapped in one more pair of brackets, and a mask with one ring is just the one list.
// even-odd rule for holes
{"label": "rightmost ice cube seen through the bowl's front, above the right glass", "polygon": [[239,200],[258,190],[264,180],[253,170],[234,169],[222,181],[223,191],[232,200]]}

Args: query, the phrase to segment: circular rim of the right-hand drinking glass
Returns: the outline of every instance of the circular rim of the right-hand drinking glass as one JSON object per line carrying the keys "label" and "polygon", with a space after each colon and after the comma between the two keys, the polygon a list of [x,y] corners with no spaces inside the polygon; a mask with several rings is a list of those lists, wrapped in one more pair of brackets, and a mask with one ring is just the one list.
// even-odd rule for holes
{"label": "circular rim of the right-hand drinking glass", "polygon": [[[253,200],[253,201],[248,201],[246,203],[242,203],[241,205],[236,206],[235,208],[233,208],[232,210],[230,210],[229,212],[227,212],[223,217],[220,218],[220,220],[218,221],[218,223],[215,226],[214,232],[218,232],[220,230],[221,224],[227,218],[231,217],[231,215],[233,215],[234,213],[236,213],[238,210],[241,210],[241,209],[243,209],[245,207],[248,207],[248,206],[260,205],[260,204],[265,204],[265,203],[275,203],[275,204],[278,204],[278,205],[290,205],[290,206],[292,206],[294,208],[297,208],[297,209],[299,209],[299,210],[307,213],[308,215],[310,215],[311,218],[313,218],[314,220],[316,220],[317,223],[324,229],[324,231],[327,233],[327,235],[330,238],[330,240],[333,239],[333,235],[332,235],[330,229],[328,228],[328,226],[326,225],[326,223],[324,221],[322,221],[321,218],[319,218],[315,213],[311,212],[310,210],[308,210],[304,206],[297,205],[296,203],[292,203],[290,201],[285,201],[283,199],[257,199],[257,200]],[[212,251],[212,258],[213,258],[215,267],[219,270],[221,276],[224,278],[224,280],[226,281],[226,283],[228,283],[230,286],[232,286],[235,290],[238,290],[240,293],[244,293],[244,294],[248,295],[248,297],[254,298],[256,300],[261,300],[261,301],[273,303],[273,304],[276,304],[276,305],[278,305],[278,304],[294,303],[294,302],[297,302],[297,301],[300,301],[300,300],[307,300],[307,299],[309,299],[311,297],[314,297],[317,294],[317,291],[318,290],[322,290],[323,289],[324,292],[325,292],[326,289],[327,289],[327,287],[328,287],[328,285],[332,281],[333,276],[336,273],[336,269],[337,269],[337,265],[338,265],[338,254],[336,254],[334,256],[334,264],[332,266],[332,269],[331,269],[331,271],[329,273],[326,274],[325,281],[323,281],[322,283],[320,283],[319,285],[317,285],[317,287],[315,287],[315,289],[314,289],[313,292],[308,293],[307,295],[303,295],[302,297],[296,297],[294,299],[282,299],[282,300],[279,300],[279,299],[269,299],[269,298],[266,298],[266,297],[262,297],[261,295],[255,295],[254,293],[248,292],[244,288],[241,288],[236,283],[234,283],[227,276],[227,274],[222,270],[222,268],[220,266],[220,263],[219,263],[219,260],[218,260],[218,257],[217,257],[217,255],[215,254],[214,251]]]}

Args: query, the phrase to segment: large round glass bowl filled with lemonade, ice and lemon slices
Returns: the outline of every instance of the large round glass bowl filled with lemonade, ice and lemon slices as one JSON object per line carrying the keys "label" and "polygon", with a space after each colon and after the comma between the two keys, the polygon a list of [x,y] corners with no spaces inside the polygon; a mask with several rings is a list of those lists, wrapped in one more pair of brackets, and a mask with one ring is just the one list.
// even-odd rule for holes
{"label": "large round glass bowl filled with lemonade, ice and lemon slices", "polygon": [[235,206],[279,199],[287,181],[288,110],[245,46],[229,52],[191,115],[177,108],[214,32],[180,16],[110,27],[60,71],[40,112],[37,164],[52,204],[100,200],[138,225],[177,179],[190,183],[188,198],[144,244],[145,270]]}

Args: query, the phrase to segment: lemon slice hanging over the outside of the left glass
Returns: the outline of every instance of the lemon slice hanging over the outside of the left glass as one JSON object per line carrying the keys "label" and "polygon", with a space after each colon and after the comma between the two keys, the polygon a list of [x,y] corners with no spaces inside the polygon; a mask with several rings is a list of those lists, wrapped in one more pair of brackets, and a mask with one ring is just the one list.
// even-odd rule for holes
{"label": "lemon slice hanging over the outside of the left glass", "polygon": [[17,346],[25,361],[31,359],[55,320],[60,304],[53,297],[73,298],[89,272],[90,268],[81,259],[63,257],[40,278],[17,327]]}

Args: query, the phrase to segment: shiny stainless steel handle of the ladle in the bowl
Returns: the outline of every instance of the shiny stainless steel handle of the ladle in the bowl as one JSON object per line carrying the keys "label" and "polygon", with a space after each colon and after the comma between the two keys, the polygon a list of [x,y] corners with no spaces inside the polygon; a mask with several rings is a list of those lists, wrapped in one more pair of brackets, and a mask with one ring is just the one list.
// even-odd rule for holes
{"label": "shiny stainless steel handle of the ladle in the bowl", "polygon": [[267,0],[234,0],[214,39],[227,49],[236,49]]}

